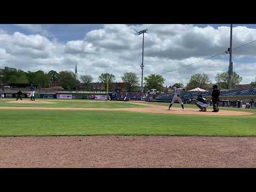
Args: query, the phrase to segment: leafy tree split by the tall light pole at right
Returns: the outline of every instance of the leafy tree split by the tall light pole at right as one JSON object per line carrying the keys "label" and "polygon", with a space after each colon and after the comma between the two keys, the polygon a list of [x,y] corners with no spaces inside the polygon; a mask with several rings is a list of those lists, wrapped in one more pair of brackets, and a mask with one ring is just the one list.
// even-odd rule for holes
{"label": "leafy tree split by the tall light pole at right", "polygon": [[[228,72],[217,74],[215,76],[215,81],[219,82],[220,79],[220,88],[228,89]],[[235,71],[233,72],[231,78],[231,85],[239,85],[243,80],[243,77],[240,77]]]}

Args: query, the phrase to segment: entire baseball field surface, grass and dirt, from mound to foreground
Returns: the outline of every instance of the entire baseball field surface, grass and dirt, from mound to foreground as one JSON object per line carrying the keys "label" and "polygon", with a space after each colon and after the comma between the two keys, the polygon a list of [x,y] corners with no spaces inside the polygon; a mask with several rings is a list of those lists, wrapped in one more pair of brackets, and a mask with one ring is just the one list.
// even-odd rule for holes
{"label": "entire baseball field surface, grass and dirt, from mound to foreground", "polygon": [[256,167],[255,109],[168,106],[2,99],[0,167]]}

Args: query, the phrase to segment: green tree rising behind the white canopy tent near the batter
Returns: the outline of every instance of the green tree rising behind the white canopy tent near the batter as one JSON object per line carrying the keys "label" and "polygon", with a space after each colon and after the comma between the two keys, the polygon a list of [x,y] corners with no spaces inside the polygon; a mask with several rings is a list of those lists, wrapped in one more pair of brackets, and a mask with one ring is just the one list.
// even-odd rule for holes
{"label": "green tree rising behind the white canopy tent near the batter", "polygon": [[187,89],[195,89],[196,87],[202,87],[209,82],[209,76],[207,74],[194,74],[190,77]]}

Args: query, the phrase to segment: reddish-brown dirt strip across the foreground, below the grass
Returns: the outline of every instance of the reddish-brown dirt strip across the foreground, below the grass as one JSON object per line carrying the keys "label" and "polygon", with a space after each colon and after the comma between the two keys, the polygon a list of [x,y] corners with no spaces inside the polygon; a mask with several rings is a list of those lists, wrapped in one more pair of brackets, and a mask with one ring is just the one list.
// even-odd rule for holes
{"label": "reddish-brown dirt strip across the foreground, below the grass", "polygon": [[256,167],[255,159],[256,137],[0,138],[0,167]]}

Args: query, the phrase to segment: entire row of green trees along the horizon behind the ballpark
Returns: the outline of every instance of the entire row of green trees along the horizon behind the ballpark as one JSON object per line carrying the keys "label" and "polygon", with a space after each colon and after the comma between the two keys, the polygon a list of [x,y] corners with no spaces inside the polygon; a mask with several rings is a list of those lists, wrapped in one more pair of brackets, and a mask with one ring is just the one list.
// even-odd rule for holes
{"label": "entire row of green trees along the horizon behind the ballpark", "polygon": [[[113,83],[115,82],[115,75],[109,74],[109,73],[102,73],[99,75],[99,82],[101,83],[107,83],[109,84],[109,88],[113,86]],[[82,75],[80,76],[81,83],[85,86],[86,90],[90,90],[90,84],[93,82],[93,77],[91,75]],[[123,83],[126,83],[127,85],[127,91],[138,91],[139,84],[139,77],[132,72],[124,73],[121,77]],[[203,74],[194,74],[190,77],[188,84],[186,85],[186,88],[188,90],[194,89],[196,87],[204,87],[205,84],[208,84],[210,82],[209,76],[205,73]],[[221,89],[227,89],[228,86],[228,72],[225,73],[219,73],[215,77],[215,83],[220,85]],[[243,77],[239,76],[236,72],[233,72],[233,77],[231,79],[231,84],[238,85],[242,82]],[[157,74],[150,74],[147,77],[144,78],[144,85],[146,90],[150,89],[157,89],[157,90],[164,90],[164,82],[165,79],[162,75]],[[60,71],[59,73],[57,71],[51,70],[49,73],[45,73],[42,70],[38,71],[23,71],[20,69],[14,69],[14,68],[5,68],[2,71],[2,74],[0,74],[0,82],[3,82],[4,84],[10,84],[10,83],[27,83],[27,84],[34,84],[35,86],[39,88],[44,87],[50,87],[50,82],[59,82],[60,86],[62,86],[64,89],[76,89],[77,88],[77,80],[75,77],[75,74],[72,71]],[[174,83],[172,85],[175,86],[176,84],[180,83]],[[252,87],[256,87],[256,77],[255,82],[251,83]],[[181,86],[184,86],[181,84]]]}

